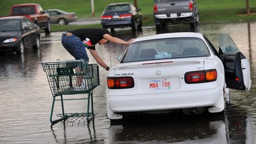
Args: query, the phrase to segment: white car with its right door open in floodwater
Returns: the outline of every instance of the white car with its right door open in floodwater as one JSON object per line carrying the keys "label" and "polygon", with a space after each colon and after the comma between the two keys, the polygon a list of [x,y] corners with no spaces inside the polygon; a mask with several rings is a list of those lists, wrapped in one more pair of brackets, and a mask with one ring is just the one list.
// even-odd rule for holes
{"label": "white car with its right door open in floodwater", "polygon": [[229,88],[251,88],[251,72],[229,35],[220,37],[217,49],[201,33],[134,40],[107,76],[109,119],[136,112],[222,112],[229,102]]}

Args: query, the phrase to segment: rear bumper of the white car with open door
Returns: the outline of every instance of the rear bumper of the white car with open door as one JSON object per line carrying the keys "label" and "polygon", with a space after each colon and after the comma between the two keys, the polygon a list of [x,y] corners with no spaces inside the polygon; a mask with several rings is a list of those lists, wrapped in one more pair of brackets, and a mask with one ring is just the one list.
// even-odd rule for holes
{"label": "rear bumper of the white car with open door", "polygon": [[107,96],[109,110],[113,113],[162,111],[202,106],[218,107],[220,100],[223,100],[223,90],[219,88],[145,95]]}

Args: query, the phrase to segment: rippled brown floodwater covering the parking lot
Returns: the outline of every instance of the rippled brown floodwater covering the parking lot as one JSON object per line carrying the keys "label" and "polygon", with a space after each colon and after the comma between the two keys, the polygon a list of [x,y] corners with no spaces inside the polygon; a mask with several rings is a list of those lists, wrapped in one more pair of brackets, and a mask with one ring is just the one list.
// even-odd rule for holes
{"label": "rippled brown floodwater covering the parking lot", "polygon": [[[188,31],[186,26],[169,27],[167,32]],[[197,31],[214,44],[217,33],[229,33],[251,63],[251,90],[230,90],[231,104],[223,115],[186,116],[181,113],[131,115],[112,125],[106,115],[106,70],[100,69],[100,86],[94,89],[94,121],[72,118],[51,125],[53,97],[42,62],[73,59],[61,46],[61,32],[42,35],[39,50],[24,55],[0,55],[0,143],[254,143],[256,142],[256,23],[214,23],[199,25]],[[44,34],[44,33],[42,33]],[[129,40],[154,35],[154,27],[132,33],[116,31]],[[126,46],[108,43],[96,46],[109,66],[117,63]],[[90,57],[90,63],[96,61]],[[83,109],[82,100],[65,103],[65,109]],[[56,109],[60,109],[58,104]]]}

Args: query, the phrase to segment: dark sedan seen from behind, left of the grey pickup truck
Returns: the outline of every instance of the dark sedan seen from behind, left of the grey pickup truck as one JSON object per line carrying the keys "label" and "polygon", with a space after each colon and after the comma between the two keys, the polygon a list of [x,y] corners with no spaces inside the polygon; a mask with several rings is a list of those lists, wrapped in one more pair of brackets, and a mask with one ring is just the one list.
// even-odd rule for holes
{"label": "dark sedan seen from behind, left of the grey pickup truck", "polygon": [[103,28],[114,31],[117,27],[132,27],[132,31],[141,28],[142,16],[131,3],[111,3],[106,6],[100,17]]}

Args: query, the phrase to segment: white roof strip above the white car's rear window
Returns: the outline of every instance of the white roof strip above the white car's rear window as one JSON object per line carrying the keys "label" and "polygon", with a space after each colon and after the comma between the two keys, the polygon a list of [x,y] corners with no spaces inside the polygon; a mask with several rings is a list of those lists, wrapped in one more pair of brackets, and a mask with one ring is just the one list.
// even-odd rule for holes
{"label": "white roof strip above the white car's rear window", "polygon": [[162,33],[156,35],[150,35],[145,37],[140,37],[135,39],[133,42],[141,42],[145,40],[158,40],[165,38],[200,38],[203,39],[202,33],[193,33],[193,32],[179,32],[179,33]]}

